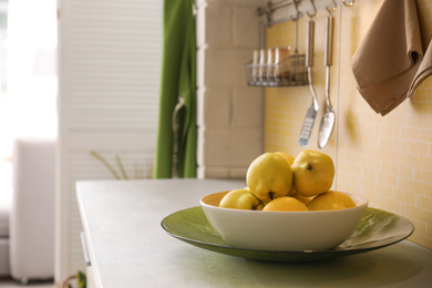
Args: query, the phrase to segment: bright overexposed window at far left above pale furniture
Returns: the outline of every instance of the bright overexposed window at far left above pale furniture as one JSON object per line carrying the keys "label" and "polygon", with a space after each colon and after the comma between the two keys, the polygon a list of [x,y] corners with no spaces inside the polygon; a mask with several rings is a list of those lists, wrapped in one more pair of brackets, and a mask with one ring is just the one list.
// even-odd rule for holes
{"label": "bright overexposed window at far left above pale furniture", "polygon": [[55,0],[0,0],[0,189],[16,137],[56,135],[55,50]]}

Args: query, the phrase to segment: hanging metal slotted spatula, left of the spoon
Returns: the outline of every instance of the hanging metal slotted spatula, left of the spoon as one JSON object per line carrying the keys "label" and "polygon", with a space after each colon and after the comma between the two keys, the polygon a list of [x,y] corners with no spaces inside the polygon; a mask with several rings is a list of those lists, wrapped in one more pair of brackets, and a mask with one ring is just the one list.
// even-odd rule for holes
{"label": "hanging metal slotted spatula, left of the spoon", "polygon": [[313,89],[312,82],[312,65],[313,65],[313,39],[315,39],[315,22],[310,18],[308,22],[308,37],[306,42],[306,66],[308,68],[308,81],[309,89],[312,94],[312,105],[306,112],[304,124],[301,126],[300,137],[298,144],[300,146],[307,146],[309,143],[310,134],[313,128],[315,119],[319,110],[318,96]]}

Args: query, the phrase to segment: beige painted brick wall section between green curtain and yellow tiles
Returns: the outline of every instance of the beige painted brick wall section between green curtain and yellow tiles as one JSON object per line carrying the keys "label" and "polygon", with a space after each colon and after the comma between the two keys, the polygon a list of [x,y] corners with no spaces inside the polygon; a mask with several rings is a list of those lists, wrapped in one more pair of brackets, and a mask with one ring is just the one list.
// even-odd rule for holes
{"label": "beige painted brick wall section between green curtain and yellow tiles", "polygon": [[263,152],[264,91],[248,88],[244,64],[258,45],[261,0],[198,0],[198,177],[244,177]]}

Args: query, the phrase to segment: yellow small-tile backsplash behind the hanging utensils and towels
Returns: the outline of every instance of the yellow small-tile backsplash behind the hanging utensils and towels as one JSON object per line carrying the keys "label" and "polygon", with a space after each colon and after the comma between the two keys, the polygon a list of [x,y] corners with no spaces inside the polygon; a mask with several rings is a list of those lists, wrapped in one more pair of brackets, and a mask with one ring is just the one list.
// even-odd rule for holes
{"label": "yellow small-tile backsplash behind the hanging utensils and towels", "polygon": [[[337,123],[322,152],[337,166],[333,188],[364,195],[370,206],[410,219],[410,240],[432,249],[432,78],[426,79],[400,106],[385,116],[377,114],[358,93],[351,58],[383,0],[356,1],[335,11],[333,65],[330,96]],[[423,49],[432,39],[432,2],[418,0]],[[328,12],[316,22],[313,83],[320,99],[311,140],[306,148],[319,150],[317,136],[325,104],[323,45]],[[309,17],[298,22],[298,50],[305,53]],[[267,28],[267,47],[295,48],[296,23]],[[308,86],[265,89],[265,151],[297,155],[302,120],[311,105]]]}

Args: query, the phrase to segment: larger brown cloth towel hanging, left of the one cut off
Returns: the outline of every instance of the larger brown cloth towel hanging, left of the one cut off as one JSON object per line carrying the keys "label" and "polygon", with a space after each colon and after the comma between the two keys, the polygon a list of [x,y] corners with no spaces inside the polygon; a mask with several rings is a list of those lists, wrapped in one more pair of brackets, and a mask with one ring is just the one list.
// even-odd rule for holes
{"label": "larger brown cloth towel hanging, left of the one cut off", "polygon": [[415,0],[384,0],[351,61],[360,94],[388,114],[408,97],[422,59]]}

